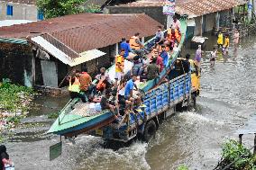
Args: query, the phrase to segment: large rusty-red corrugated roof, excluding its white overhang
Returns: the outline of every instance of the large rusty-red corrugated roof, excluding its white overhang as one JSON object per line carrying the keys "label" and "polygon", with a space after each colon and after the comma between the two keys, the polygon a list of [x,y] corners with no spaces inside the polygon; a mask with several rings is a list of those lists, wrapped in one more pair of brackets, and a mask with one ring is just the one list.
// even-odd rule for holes
{"label": "large rusty-red corrugated roof, excluding its white overhang", "polygon": [[146,14],[82,13],[0,28],[0,38],[31,39],[41,36],[70,58],[130,38],[135,32],[151,36],[161,25]]}

